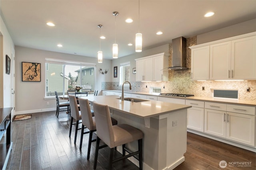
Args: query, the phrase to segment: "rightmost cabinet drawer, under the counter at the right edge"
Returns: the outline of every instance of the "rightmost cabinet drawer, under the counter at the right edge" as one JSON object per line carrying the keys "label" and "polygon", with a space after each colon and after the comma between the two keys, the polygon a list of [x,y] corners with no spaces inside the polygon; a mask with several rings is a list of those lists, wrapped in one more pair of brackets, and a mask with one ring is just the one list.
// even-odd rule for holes
{"label": "rightmost cabinet drawer, under the counter at the right edge", "polygon": [[255,115],[255,107],[227,104],[227,111]]}

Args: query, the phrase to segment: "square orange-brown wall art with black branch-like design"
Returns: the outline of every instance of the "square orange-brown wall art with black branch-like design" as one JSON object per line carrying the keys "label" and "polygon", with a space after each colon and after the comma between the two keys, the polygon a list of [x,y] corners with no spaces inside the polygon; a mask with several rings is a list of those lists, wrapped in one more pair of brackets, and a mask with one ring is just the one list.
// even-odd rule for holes
{"label": "square orange-brown wall art with black branch-like design", "polygon": [[22,82],[40,82],[41,63],[22,62]]}

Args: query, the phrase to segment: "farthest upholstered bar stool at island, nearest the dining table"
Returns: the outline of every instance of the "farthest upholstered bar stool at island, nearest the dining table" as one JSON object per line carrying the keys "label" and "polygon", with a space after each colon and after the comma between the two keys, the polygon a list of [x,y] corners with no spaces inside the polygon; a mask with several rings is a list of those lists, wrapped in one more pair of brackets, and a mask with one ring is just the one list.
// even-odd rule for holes
{"label": "farthest upholstered bar stool at island, nearest the dining table", "polygon": [[[82,120],[82,117],[81,117],[81,113],[78,109],[78,104],[76,102],[76,97],[74,95],[68,95],[68,99],[69,99],[69,103],[70,103],[70,112],[71,112],[69,137],[71,136],[72,125],[76,125],[75,139],[74,139],[74,143],[76,144],[77,131],[79,129],[82,129],[81,127],[78,128],[78,124],[82,123],[82,121],[79,121],[79,120]],[[73,122],[74,119],[76,120],[76,122]]]}

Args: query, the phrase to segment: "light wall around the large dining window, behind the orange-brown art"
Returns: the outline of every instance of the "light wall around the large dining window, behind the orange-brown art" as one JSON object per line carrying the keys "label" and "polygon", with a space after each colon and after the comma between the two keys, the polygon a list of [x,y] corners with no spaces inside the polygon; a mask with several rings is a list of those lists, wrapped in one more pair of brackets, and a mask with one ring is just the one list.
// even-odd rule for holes
{"label": "light wall around the large dining window, behind the orange-brown art", "polygon": [[[97,58],[84,57],[79,55],[70,55],[31,49],[26,47],[15,47],[16,53],[16,114],[35,113],[40,111],[50,111],[56,109],[56,99],[45,100],[45,58],[62,59],[69,61],[80,61],[96,64],[96,89],[101,90],[102,82],[111,80],[110,73],[99,74],[98,69],[104,65],[104,68],[110,70],[111,60],[103,60],[98,63]],[[41,82],[22,82],[22,64],[21,62],[41,63]],[[46,105],[49,102],[50,105]]]}

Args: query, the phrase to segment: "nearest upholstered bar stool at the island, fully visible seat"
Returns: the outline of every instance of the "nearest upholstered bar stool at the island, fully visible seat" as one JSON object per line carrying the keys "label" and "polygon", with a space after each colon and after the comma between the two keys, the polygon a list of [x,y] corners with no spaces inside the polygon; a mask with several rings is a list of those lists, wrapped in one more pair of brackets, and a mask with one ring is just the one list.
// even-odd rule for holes
{"label": "nearest upholstered bar stool at the island, fully visible seat", "polygon": [[[112,169],[112,163],[118,162],[130,156],[139,160],[140,170],[142,170],[142,138],[143,132],[135,127],[126,124],[119,124],[112,126],[110,111],[107,105],[98,104],[93,102],[94,107],[94,117],[97,127],[97,140],[96,149],[94,157],[94,169],[97,166],[98,151],[102,147],[100,145],[100,140],[102,140],[108,147],[110,147],[110,156],[108,169]],[[138,151],[131,152],[125,147],[126,143],[138,140]],[[113,161],[114,147],[122,145],[123,156]],[[125,155],[125,151],[129,154]],[[136,157],[138,154],[138,158]]]}

